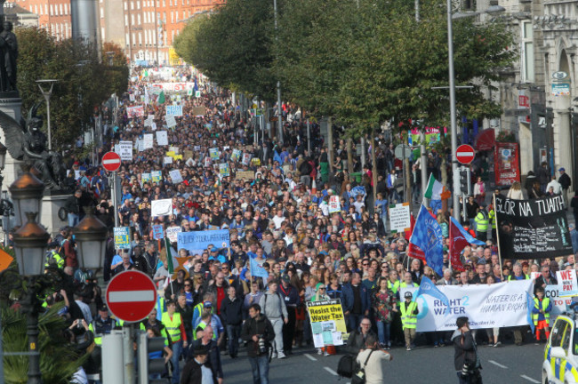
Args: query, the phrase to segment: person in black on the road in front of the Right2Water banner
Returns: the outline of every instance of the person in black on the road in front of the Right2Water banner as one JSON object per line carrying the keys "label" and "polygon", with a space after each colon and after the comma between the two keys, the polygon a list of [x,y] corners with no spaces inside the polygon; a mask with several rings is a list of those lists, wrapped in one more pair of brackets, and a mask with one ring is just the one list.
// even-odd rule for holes
{"label": "person in black on the road in front of the Right2Water banner", "polygon": [[482,377],[479,370],[478,349],[476,340],[470,331],[470,321],[468,317],[458,317],[455,324],[458,329],[454,331],[452,340],[454,341],[454,367],[460,384],[481,383]]}

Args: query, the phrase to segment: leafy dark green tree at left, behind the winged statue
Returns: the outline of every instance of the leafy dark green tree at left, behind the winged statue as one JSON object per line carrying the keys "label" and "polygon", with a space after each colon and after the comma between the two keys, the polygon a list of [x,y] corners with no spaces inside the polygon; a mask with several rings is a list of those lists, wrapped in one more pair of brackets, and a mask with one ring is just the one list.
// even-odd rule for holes
{"label": "leafy dark green tree at left, behind the winged statue", "polygon": [[[67,148],[82,134],[95,107],[112,93],[127,89],[126,59],[119,48],[105,46],[115,52],[113,66],[110,66],[106,57],[101,62],[92,46],[72,39],[57,42],[44,29],[18,28],[16,35],[20,47],[18,88],[23,113],[36,102],[44,101],[36,80],[59,80],[54,84],[50,100],[52,148]],[[40,109],[44,116],[45,108],[43,104]]]}

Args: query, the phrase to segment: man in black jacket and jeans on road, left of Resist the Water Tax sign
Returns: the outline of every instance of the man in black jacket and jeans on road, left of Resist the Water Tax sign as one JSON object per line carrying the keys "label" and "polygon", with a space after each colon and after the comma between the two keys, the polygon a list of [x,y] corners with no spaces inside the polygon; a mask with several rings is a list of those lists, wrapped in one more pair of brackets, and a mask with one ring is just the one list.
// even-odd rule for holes
{"label": "man in black jacket and jeans on road, left of Resist the Water Tax sign", "polygon": [[250,318],[243,324],[241,339],[247,341],[247,356],[253,370],[253,384],[269,384],[269,345],[275,340],[275,330],[261,306],[249,307]]}

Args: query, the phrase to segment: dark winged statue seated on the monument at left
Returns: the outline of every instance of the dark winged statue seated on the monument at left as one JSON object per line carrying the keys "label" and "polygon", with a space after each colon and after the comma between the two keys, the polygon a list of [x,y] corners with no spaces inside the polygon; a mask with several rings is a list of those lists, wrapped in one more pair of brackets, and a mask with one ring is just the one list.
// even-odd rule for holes
{"label": "dark winged statue seated on the monument at left", "polygon": [[36,168],[46,188],[63,190],[66,169],[60,154],[46,148],[46,135],[40,131],[42,116],[36,115],[39,105],[35,104],[28,112],[28,119],[20,124],[0,111],[0,127],[10,155]]}

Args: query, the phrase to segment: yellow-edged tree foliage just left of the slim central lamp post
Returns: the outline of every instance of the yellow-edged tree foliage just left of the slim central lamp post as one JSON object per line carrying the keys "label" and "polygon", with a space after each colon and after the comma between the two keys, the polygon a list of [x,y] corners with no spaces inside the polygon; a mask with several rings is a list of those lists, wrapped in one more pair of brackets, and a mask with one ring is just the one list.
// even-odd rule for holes
{"label": "yellow-edged tree foliage just left of the slim central lamp post", "polygon": [[191,20],[175,39],[175,50],[214,82],[275,100],[273,20],[272,0],[229,0],[208,17]]}

